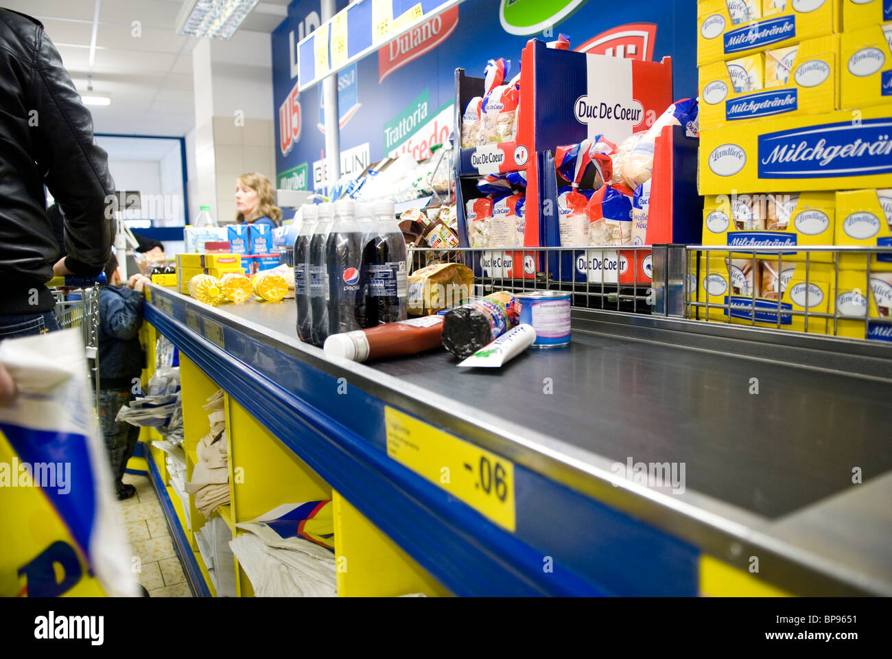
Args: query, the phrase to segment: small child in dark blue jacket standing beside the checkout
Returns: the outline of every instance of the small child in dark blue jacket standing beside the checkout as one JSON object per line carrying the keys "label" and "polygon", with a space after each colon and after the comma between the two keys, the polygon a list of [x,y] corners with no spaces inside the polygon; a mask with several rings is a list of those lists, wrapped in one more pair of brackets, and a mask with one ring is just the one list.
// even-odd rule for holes
{"label": "small child in dark blue jacket standing beside the checkout", "polygon": [[111,476],[118,500],[136,494],[136,488],[122,482],[127,462],[133,455],[139,428],[115,421],[121,405],[139,391],[143,370],[143,347],[137,334],[143,322],[143,287],[148,278],[135,274],[121,286],[118,259],[111,254],[105,264],[108,283],[99,291],[99,422],[111,460]]}

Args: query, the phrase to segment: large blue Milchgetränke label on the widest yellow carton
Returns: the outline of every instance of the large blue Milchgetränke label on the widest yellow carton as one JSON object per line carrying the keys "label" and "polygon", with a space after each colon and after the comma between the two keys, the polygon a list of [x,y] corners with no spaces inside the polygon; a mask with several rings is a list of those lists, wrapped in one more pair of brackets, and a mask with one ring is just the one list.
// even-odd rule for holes
{"label": "large blue Milchgetr\u00e4nke label on the widest yellow carton", "polygon": [[892,119],[865,119],[860,124],[841,121],[765,133],[758,137],[758,176],[810,179],[888,173],[890,130]]}

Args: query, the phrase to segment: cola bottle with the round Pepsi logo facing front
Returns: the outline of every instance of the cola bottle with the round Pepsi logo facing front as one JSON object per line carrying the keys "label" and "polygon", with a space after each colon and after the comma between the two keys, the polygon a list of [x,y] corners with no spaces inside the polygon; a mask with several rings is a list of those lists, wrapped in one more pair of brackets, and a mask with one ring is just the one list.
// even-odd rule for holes
{"label": "cola bottle with the round Pepsi logo facing front", "polygon": [[361,329],[362,234],[353,213],[354,204],[350,199],[335,202],[335,222],[326,243],[329,334]]}

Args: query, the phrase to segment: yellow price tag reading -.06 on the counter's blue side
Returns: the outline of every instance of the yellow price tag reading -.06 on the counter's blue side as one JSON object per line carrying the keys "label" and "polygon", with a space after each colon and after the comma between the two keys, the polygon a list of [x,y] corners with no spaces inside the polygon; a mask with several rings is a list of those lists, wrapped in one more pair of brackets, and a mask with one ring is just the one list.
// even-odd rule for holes
{"label": "yellow price tag reading -.06 on the counter's blue side", "polygon": [[387,455],[501,527],[516,530],[514,463],[392,407],[384,408],[384,424]]}

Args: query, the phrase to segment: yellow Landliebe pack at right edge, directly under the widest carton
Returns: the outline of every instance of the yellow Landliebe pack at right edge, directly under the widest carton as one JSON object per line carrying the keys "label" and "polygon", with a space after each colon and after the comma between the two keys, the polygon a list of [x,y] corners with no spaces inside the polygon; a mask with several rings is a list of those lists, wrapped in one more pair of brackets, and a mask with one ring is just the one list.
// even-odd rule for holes
{"label": "yellow Landliebe pack at right edge, directly under the widest carton", "polygon": [[[836,245],[892,246],[892,189],[837,193]],[[866,270],[866,254],[839,254],[839,267]],[[873,254],[871,271],[892,271],[892,254]]]}

